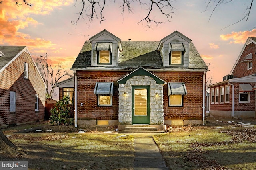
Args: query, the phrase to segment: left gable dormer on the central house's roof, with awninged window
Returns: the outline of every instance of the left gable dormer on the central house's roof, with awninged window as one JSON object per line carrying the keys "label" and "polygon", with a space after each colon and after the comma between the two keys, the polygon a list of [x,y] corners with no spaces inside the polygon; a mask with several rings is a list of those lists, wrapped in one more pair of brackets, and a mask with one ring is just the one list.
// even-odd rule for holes
{"label": "left gable dormer on the central house's roof, with awninged window", "polygon": [[91,66],[117,66],[122,51],[121,40],[106,29],[90,38],[92,44]]}

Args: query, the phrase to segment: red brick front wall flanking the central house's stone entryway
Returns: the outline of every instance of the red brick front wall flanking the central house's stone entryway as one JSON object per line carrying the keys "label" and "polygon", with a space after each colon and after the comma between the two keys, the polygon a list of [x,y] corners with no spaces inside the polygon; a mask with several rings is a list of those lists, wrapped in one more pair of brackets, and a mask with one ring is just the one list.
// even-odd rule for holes
{"label": "red brick front wall flanking the central house's stone entryway", "polygon": [[[77,74],[77,114],[79,119],[97,119],[106,117],[118,120],[118,83],[130,72],[120,71],[76,71]],[[203,72],[154,72],[165,82],[184,82],[188,94],[184,96],[183,107],[169,107],[167,85],[164,85],[164,120],[196,120],[202,118]],[[94,94],[96,82],[114,82],[112,106],[98,107]],[[83,106],[80,106],[83,103]]]}

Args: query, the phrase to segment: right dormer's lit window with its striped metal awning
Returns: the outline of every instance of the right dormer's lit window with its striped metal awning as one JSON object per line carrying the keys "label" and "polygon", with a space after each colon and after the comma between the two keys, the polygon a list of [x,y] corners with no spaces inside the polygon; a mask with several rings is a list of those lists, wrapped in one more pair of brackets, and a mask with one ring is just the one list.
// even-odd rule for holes
{"label": "right dormer's lit window with its striped metal awning", "polygon": [[183,65],[183,55],[186,52],[184,43],[169,43],[170,65]]}

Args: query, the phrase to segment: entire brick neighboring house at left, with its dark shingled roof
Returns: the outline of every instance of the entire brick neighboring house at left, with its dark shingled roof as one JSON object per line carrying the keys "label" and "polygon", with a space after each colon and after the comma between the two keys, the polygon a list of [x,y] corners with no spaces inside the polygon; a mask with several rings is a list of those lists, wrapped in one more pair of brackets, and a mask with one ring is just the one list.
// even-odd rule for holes
{"label": "entire brick neighboring house at left, with its dark shingled roof", "polygon": [[43,120],[45,93],[28,47],[0,47],[0,127]]}

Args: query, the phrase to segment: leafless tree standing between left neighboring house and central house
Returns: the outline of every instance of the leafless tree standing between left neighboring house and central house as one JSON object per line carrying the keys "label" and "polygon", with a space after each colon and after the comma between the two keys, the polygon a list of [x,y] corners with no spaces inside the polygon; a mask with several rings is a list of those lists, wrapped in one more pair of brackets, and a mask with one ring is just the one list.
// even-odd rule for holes
{"label": "leafless tree standing between left neighboring house and central house", "polygon": [[[72,76],[68,71],[62,68],[62,63],[58,63],[58,66],[52,66],[52,61],[49,59],[47,53],[36,58],[36,65],[43,77],[46,84],[46,98],[52,97],[56,84],[64,76]],[[48,87],[50,86],[50,88]]]}

